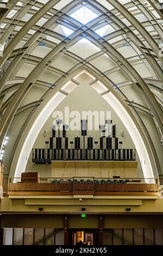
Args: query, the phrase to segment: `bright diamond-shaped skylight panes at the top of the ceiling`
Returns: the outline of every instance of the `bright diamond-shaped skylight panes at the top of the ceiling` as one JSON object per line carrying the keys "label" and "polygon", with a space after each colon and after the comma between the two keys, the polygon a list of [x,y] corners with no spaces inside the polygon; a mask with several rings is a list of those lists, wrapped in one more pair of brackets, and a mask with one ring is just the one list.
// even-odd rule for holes
{"label": "bright diamond-shaped skylight panes at the top of the ceiling", "polygon": [[[78,9],[77,11],[75,11],[74,13],[72,13],[70,16],[73,19],[75,19],[75,20],[79,21],[80,23],[82,23],[83,25],[85,25],[86,23],[96,19],[99,15],[97,15],[92,10],[90,10],[89,8],[84,6],[80,9]],[[67,36],[71,35],[73,33],[72,29],[67,28],[65,26],[62,26],[62,29]],[[106,31],[106,27],[102,27],[102,28],[98,29],[96,31],[96,33],[103,36],[105,31]],[[79,42],[89,42],[89,40],[87,40],[86,38],[83,38]]]}

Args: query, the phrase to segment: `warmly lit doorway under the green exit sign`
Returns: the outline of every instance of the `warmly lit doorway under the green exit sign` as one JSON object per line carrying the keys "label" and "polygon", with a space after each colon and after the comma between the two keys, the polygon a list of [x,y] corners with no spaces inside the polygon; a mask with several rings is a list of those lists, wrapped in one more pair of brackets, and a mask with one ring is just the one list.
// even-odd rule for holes
{"label": "warmly lit doorway under the green exit sign", "polygon": [[70,229],[69,243],[74,245],[98,245],[97,229]]}

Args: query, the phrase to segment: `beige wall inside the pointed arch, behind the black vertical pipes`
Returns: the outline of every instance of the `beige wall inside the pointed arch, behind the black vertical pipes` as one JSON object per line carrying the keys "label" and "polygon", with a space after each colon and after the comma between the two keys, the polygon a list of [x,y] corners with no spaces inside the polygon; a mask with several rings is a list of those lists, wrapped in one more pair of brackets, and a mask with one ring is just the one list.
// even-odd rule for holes
{"label": "beige wall inside the pointed arch, behind the black vertical pipes", "polygon": [[[82,111],[111,111],[111,119],[112,124],[116,124],[116,134],[119,139],[119,141],[123,142],[122,148],[135,148],[134,143],[131,140],[131,137],[126,129],[126,127],[123,125],[120,118],[118,118],[117,114],[114,111],[114,106],[108,105],[108,103],[103,100],[103,98],[93,89],[89,86],[87,82],[84,82],[84,80],[87,80],[87,76],[82,76],[80,78],[83,79],[82,82],[73,92],[66,97],[64,101],[60,103],[60,105],[55,109],[56,111],[64,112],[65,106],[70,107],[71,111],[79,111],[80,114],[82,114]],[[89,82],[89,81],[88,81]],[[46,148],[45,141],[49,140],[49,137],[52,136],[52,123],[53,123],[52,115],[49,117],[46,124],[41,129],[41,132],[39,136],[37,137],[34,148]],[[72,120],[72,119],[71,119]],[[46,131],[46,137],[43,137],[43,132]],[[124,137],[122,137],[122,132],[124,131]],[[57,132],[58,135],[58,132]],[[111,134],[112,135],[112,134]],[[83,147],[83,138],[81,136],[80,131],[67,131],[66,135],[70,141],[73,141],[74,137],[80,136],[81,137],[81,147]],[[99,141],[99,137],[101,136],[100,131],[88,131],[87,136],[93,136],[96,138],[96,140]],[[87,139],[85,139],[87,144]],[[95,139],[94,139],[95,141]],[[114,141],[114,140],[113,140]],[[54,141],[55,143],[55,141]],[[64,146],[64,144],[62,144]],[[70,144],[69,144],[70,147]],[[99,143],[98,143],[99,147]],[[114,147],[114,142],[112,142],[112,147]],[[137,175],[140,177],[143,177],[141,164],[139,161],[139,158],[137,157],[138,161],[138,170]],[[40,175],[43,176],[51,176],[51,166],[48,164],[33,164],[32,163],[32,154],[29,157],[29,161],[27,161],[27,167],[26,172],[29,171],[35,171],[39,172]]]}

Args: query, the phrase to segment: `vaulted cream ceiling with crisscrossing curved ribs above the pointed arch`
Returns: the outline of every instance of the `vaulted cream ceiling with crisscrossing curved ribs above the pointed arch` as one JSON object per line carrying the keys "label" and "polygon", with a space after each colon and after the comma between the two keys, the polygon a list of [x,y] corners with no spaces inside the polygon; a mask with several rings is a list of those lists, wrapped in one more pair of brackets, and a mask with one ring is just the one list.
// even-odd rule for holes
{"label": "vaulted cream ceiling with crisscrossing curved ribs above the pointed arch", "polygon": [[[83,7],[97,16],[86,24],[72,15]],[[0,10],[0,145],[16,114],[30,109],[27,125],[49,90],[83,67],[128,103],[153,147],[140,111],[153,118],[161,137],[161,1],[9,0]],[[34,87],[35,100],[26,100]],[[130,97],[133,90],[139,100]]]}

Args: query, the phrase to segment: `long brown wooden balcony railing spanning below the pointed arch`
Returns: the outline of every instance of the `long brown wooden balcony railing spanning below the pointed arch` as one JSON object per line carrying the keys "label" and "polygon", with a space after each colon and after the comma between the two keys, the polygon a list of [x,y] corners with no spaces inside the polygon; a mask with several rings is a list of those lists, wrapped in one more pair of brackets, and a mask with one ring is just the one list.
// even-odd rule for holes
{"label": "long brown wooden balcony railing spanning below the pointed arch", "polygon": [[95,196],[158,196],[156,179],[108,178],[9,178],[4,196],[13,195],[73,195]]}

